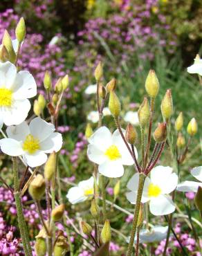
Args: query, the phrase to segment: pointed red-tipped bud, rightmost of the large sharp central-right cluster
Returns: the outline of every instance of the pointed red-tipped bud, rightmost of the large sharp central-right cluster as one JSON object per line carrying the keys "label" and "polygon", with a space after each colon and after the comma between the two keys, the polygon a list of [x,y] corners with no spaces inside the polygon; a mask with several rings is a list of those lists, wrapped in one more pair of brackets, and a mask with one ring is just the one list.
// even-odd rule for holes
{"label": "pointed red-tipped bud, rightmost of the large sharp central-right cluster", "polygon": [[167,90],[161,102],[161,113],[165,120],[168,120],[173,113],[172,93],[171,89]]}

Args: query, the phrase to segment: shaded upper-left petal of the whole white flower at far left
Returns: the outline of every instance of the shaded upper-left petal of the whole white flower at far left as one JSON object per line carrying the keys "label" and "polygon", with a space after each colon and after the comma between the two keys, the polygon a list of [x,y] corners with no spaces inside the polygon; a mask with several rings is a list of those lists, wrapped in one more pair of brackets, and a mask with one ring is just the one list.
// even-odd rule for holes
{"label": "shaded upper-left petal of the whole white flower at far left", "polygon": [[21,124],[19,125],[12,125],[7,127],[6,134],[8,135],[8,138],[14,138],[18,141],[24,141],[26,139],[26,136],[30,134],[30,129],[27,122],[24,121],[21,122]]}

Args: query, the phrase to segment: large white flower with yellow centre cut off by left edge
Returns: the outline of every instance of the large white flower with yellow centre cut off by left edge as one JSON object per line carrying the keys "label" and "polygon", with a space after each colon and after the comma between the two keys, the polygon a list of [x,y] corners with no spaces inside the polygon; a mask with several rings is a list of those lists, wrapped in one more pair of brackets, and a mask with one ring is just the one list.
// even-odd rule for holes
{"label": "large white flower with yellow centre cut off by left edge", "polygon": [[37,84],[28,71],[20,71],[10,62],[0,62],[0,116],[6,125],[19,125],[28,116]]}

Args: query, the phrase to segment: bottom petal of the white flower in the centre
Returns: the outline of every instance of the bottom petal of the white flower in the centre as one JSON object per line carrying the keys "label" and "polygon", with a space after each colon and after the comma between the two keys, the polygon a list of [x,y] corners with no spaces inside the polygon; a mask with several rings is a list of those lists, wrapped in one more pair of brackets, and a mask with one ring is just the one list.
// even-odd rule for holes
{"label": "bottom petal of the white flower in the centre", "polygon": [[124,168],[120,160],[105,161],[102,165],[99,165],[98,170],[100,174],[109,178],[118,178],[124,174]]}

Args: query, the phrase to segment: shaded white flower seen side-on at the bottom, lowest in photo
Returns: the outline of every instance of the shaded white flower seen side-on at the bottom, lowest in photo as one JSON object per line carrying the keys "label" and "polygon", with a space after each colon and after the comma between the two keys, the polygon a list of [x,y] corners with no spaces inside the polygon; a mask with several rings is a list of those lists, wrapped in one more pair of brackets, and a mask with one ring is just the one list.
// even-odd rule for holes
{"label": "shaded white flower seen side-on at the bottom, lowest in photo", "polygon": [[[155,226],[151,230],[142,229],[140,230],[140,244],[154,243],[156,241],[162,241],[167,237],[168,227]],[[137,236],[134,239],[136,244]],[[129,243],[129,237],[127,238],[127,243]]]}

